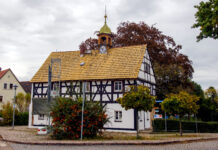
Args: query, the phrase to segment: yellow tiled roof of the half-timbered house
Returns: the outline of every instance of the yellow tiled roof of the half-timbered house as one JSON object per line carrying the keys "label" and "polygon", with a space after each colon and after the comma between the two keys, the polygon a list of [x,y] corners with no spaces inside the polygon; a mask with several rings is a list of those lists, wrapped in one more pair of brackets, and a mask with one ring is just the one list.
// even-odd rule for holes
{"label": "yellow tiled roof of the half-timbered house", "polygon": [[[83,57],[79,51],[52,52],[31,82],[48,82],[51,58],[61,59],[61,81],[137,78],[145,51],[146,45],[111,48],[107,54],[92,50]],[[85,64],[80,66],[82,62]],[[57,76],[58,64],[52,68],[53,75]],[[52,81],[58,81],[58,78]]]}

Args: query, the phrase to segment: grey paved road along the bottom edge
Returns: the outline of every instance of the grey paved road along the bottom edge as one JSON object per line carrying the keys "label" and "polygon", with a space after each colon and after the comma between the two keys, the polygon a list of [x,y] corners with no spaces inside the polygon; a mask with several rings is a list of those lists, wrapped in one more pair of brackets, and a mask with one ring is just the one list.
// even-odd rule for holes
{"label": "grey paved road along the bottom edge", "polygon": [[218,150],[218,141],[161,146],[37,146],[10,144],[14,150]]}

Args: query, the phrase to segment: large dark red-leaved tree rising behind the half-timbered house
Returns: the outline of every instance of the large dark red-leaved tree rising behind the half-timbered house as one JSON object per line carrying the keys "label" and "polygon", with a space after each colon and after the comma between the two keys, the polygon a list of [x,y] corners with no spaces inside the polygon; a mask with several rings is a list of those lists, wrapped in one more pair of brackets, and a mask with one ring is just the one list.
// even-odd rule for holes
{"label": "large dark red-leaved tree rising behind the half-timbered house", "polygon": [[[141,44],[147,44],[159,99],[191,86],[190,79],[194,72],[192,61],[180,52],[182,46],[177,45],[172,37],[144,22],[122,22],[117,27],[117,33],[113,33],[113,47]],[[85,49],[97,49],[97,39],[89,38],[82,42],[80,50]]]}

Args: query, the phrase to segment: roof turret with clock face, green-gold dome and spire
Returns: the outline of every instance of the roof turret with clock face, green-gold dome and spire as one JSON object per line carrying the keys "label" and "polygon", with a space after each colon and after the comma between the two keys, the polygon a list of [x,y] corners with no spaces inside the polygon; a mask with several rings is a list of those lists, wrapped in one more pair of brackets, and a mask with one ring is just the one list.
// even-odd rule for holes
{"label": "roof turret with clock face, green-gold dome and spire", "polygon": [[104,26],[100,29],[98,34],[98,46],[101,54],[106,54],[107,49],[112,47],[112,33],[111,29],[107,25],[107,15],[105,13]]}

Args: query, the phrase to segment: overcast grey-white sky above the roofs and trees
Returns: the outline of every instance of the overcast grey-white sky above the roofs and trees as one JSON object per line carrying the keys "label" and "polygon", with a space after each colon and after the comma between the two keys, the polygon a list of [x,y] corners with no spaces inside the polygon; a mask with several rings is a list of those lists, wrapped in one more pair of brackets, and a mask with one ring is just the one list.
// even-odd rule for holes
{"label": "overcast grey-white sky above the roofs and trees", "polygon": [[116,32],[122,21],[156,24],[183,46],[193,61],[193,80],[218,88],[218,41],[196,42],[194,5],[200,0],[1,0],[0,67],[20,81],[30,80],[52,51],[78,50],[104,23]]}

